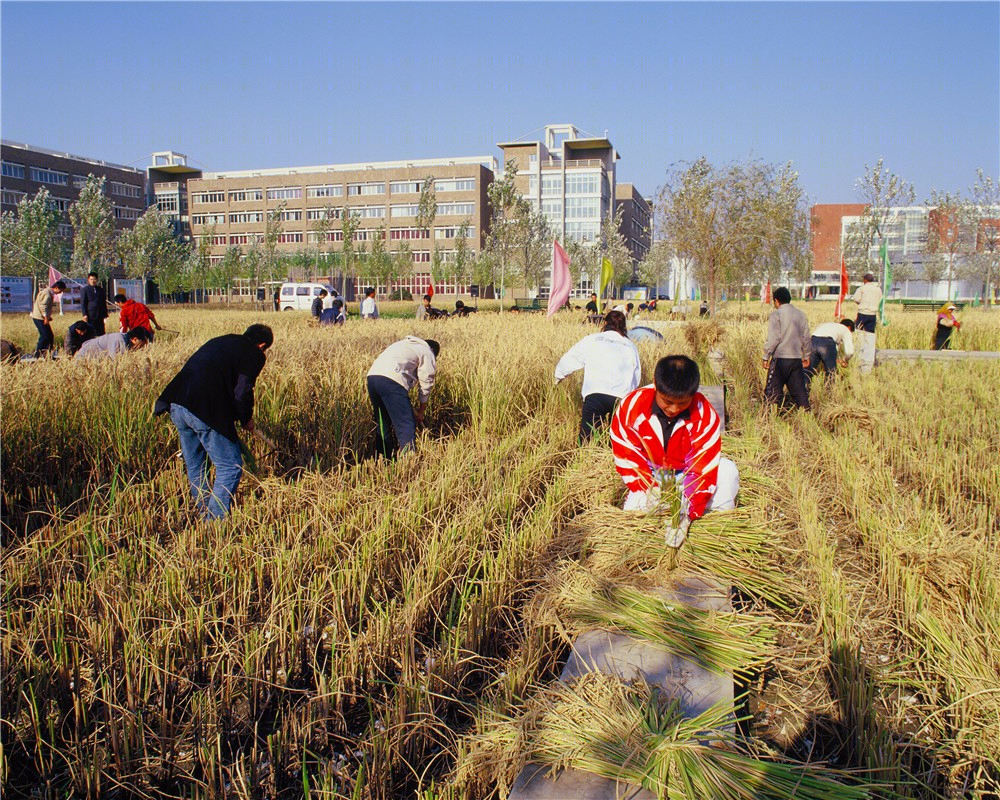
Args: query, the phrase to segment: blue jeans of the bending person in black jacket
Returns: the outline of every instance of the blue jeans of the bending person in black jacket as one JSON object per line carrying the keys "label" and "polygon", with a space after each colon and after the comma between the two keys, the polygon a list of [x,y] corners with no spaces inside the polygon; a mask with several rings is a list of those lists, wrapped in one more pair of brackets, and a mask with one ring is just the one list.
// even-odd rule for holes
{"label": "blue jeans of the bending person in black jacket", "polygon": [[[181,452],[195,507],[203,519],[219,519],[229,512],[243,475],[243,453],[238,442],[227,439],[177,403],[170,404],[170,419],[181,437]],[[208,488],[208,462],[215,466],[215,485]]]}

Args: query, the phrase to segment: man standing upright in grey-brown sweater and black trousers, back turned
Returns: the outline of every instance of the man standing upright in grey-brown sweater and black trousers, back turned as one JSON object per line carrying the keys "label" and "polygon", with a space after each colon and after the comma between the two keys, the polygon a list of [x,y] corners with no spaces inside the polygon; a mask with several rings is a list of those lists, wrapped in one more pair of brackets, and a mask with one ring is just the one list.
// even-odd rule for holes
{"label": "man standing upright in grey-brown sweater and black trousers, back turned", "polygon": [[767,370],[764,397],[769,403],[782,407],[795,405],[808,411],[805,370],[812,355],[809,321],[799,309],[792,307],[792,295],[787,287],[775,289],[773,302],[774,311],[767,321],[764,345],[764,369]]}

